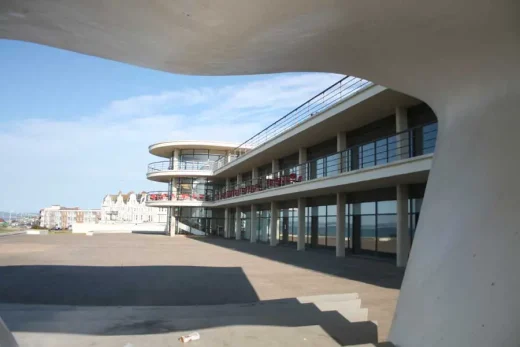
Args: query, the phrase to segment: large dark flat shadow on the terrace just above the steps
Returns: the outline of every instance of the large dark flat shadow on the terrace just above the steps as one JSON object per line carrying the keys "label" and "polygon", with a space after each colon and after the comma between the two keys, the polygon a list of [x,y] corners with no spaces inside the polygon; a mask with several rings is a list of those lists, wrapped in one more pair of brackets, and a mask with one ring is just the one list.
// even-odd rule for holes
{"label": "large dark flat shadow on the terrace just above the steps", "polygon": [[239,267],[0,267],[0,302],[47,305],[215,305],[258,296]]}

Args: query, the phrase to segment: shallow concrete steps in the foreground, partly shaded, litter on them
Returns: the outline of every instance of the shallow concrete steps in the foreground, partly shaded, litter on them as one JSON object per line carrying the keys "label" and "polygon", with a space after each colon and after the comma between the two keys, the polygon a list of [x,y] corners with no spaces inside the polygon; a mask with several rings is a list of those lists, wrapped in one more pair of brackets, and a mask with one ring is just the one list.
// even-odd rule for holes
{"label": "shallow concrete steps in the foreground, partly shaded, litter on them", "polygon": [[213,306],[0,304],[0,315],[21,346],[175,346],[193,331],[193,346],[388,346],[375,344],[377,324],[356,293]]}

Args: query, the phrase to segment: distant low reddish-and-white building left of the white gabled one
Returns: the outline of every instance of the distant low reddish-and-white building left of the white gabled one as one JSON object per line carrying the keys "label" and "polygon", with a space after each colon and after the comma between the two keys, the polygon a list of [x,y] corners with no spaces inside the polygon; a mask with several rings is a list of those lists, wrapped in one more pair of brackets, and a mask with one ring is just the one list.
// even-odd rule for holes
{"label": "distant low reddish-and-white building left of the white gabled one", "polygon": [[52,205],[40,210],[40,226],[43,228],[68,229],[73,223],[99,223],[99,209],[81,210],[79,207]]}

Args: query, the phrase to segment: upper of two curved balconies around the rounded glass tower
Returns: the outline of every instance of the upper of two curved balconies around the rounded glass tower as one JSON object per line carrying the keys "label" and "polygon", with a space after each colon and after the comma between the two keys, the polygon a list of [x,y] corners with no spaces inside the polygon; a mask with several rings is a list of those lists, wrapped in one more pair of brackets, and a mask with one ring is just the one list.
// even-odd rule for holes
{"label": "upper of two curved balconies around the rounded glass tower", "polygon": [[156,161],[148,164],[146,177],[157,182],[168,182],[172,177],[197,177],[213,175],[212,161]]}

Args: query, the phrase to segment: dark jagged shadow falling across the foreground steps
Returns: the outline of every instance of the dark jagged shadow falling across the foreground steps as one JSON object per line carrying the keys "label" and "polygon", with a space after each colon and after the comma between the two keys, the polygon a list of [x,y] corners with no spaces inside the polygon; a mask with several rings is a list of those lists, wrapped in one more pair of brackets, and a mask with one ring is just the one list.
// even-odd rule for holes
{"label": "dark jagged shadow falling across the foreground steps", "polygon": [[231,327],[235,331],[242,329],[247,335],[252,326],[320,326],[340,345],[376,343],[378,338],[373,322],[350,322],[338,311],[323,312],[313,303],[302,304],[296,299],[181,307],[0,304],[0,314],[13,333],[130,336]]}

